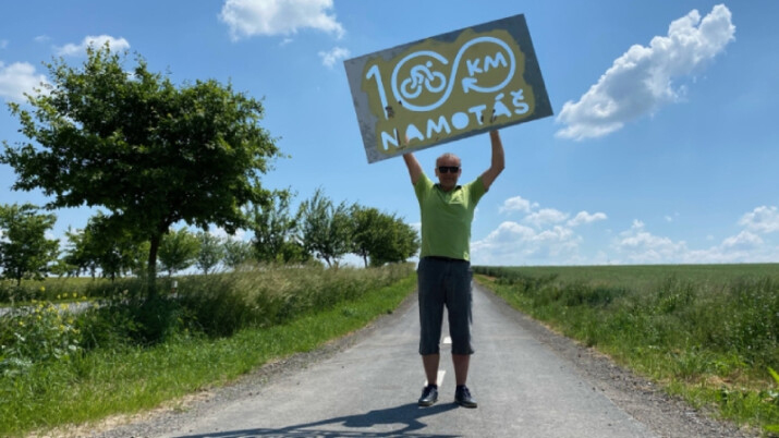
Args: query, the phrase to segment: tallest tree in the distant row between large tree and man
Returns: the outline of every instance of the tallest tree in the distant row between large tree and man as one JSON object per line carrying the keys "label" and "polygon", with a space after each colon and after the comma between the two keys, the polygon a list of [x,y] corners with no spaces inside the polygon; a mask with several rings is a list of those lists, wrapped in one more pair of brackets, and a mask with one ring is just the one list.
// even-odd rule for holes
{"label": "tallest tree in the distant row between large tree and man", "polygon": [[344,202],[336,206],[317,188],[300,207],[300,239],[306,251],[322,258],[328,267],[351,251],[352,220]]}

